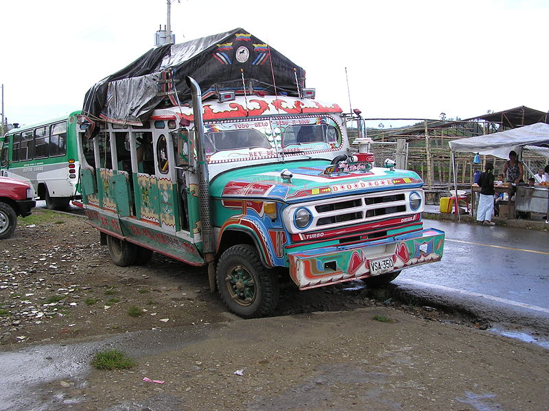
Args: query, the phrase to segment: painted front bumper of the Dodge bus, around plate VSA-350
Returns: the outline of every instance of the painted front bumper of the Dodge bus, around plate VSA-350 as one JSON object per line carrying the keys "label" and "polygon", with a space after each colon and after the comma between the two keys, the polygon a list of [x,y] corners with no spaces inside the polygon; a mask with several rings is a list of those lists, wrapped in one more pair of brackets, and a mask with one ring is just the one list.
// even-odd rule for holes
{"label": "painted front bumper of the Dodge bus, around plate VSA-350", "polygon": [[290,276],[300,290],[371,277],[370,260],[393,258],[393,271],[442,258],[444,232],[435,228],[378,241],[288,253]]}

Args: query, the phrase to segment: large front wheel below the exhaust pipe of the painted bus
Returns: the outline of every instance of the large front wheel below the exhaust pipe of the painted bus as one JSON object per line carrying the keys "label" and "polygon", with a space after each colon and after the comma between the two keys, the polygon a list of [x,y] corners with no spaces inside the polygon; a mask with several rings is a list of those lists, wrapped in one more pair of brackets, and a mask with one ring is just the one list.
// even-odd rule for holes
{"label": "large front wheel below the exhaust pipe of the painted bus", "polygon": [[277,307],[278,278],[264,267],[253,246],[228,248],[219,259],[215,277],[223,303],[237,316],[262,317]]}

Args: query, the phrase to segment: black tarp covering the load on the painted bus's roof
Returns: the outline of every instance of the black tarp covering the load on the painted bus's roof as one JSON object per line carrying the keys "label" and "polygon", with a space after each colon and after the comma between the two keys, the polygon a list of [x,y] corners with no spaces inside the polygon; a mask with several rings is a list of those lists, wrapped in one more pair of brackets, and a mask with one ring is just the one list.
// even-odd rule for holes
{"label": "black tarp covering the load on the painted bus's roof", "polygon": [[[271,69],[272,67],[272,69]],[[242,28],[178,45],[151,49],[128,67],[97,82],[86,93],[84,114],[115,121],[139,122],[154,108],[184,104],[191,99],[185,77],[212,91],[265,91],[298,96],[305,71]],[[273,83],[274,73],[274,83]]]}

